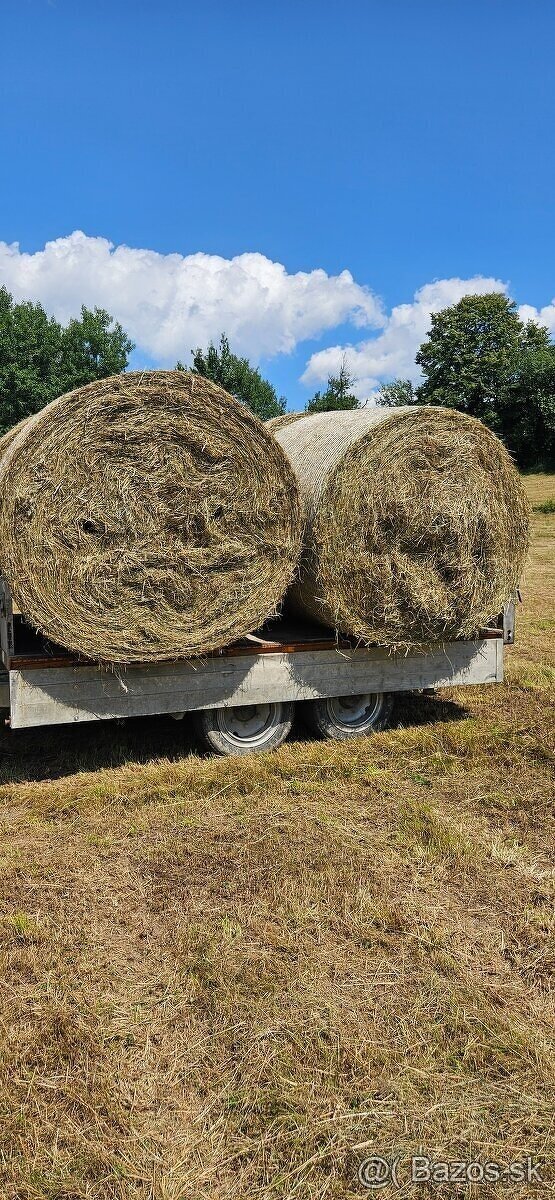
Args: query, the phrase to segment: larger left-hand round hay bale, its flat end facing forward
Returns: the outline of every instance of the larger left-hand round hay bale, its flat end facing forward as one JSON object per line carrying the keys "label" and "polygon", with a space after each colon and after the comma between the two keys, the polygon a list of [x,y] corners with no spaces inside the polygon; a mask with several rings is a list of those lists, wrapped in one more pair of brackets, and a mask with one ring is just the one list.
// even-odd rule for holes
{"label": "larger left-hand round hay bale, its flat end facing forward", "polygon": [[24,616],[107,662],[202,654],[275,612],[300,548],[286,456],[221,388],[129,373],[0,443],[0,568]]}

